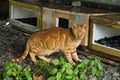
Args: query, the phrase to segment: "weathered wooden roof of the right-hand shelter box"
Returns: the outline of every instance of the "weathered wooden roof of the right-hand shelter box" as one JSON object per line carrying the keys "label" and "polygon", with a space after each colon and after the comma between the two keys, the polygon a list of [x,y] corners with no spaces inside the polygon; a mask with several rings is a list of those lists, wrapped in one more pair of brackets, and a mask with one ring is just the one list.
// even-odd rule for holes
{"label": "weathered wooden roof of the right-hand shelter box", "polygon": [[92,16],[90,21],[104,26],[120,29],[120,14],[109,14],[102,16]]}

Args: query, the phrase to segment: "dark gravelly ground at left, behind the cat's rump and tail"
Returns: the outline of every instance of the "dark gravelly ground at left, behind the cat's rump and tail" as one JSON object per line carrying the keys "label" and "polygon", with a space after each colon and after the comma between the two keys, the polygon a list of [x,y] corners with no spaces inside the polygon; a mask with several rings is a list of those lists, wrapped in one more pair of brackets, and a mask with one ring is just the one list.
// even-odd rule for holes
{"label": "dark gravelly ground at left, behind the cat's rump and tail", "polygon": [[[26,36],[20,31],[9,26],[0,26],[0,64],[2,64],[0,67],[4,67],[4,63],[6,61],[22,54],[25,48],[26,40]],[[22,66],[26,66],[23,63],[32,65],[32,62],[28,63],[30,62],[28,60],[29,57],[20,64]]]}

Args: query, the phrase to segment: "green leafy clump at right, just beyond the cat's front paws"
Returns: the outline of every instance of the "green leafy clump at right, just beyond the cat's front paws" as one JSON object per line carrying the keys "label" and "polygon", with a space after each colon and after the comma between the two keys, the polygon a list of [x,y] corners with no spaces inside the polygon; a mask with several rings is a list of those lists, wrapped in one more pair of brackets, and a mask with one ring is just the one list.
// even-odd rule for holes
{"label": "green leafy clump at right, just beyond the cat's front paws", "polygon": [[77,65],[80,71],[80,79],[84,80],[88,75],[100,77],[102,73],[102,63],[95,56],[88,56],[88,59],[83,60]]}

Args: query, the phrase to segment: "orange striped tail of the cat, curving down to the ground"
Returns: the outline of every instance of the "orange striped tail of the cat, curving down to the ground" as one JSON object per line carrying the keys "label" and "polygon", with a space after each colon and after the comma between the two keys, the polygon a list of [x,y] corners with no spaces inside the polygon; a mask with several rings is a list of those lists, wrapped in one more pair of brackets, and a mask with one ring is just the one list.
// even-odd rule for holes
{"label": "orange striped tail of the cat, curving down to the ground", "polygon": [[29,53],[29,45],[26,44],[25,51],[24,51],[24,53],[21,55],[21,57],[19,57],[19,58],[13,58],[11,61],[12,61],[12,62],[21,62],[22,60],[24,60],[24,59],[27,57],[28,53]]}

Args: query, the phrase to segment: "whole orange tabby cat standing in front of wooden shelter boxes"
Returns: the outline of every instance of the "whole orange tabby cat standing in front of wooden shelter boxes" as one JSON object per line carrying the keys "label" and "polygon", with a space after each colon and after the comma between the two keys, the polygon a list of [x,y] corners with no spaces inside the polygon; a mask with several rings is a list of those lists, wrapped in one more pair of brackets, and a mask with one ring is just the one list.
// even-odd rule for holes
{"label": "whole orange tabby cat standing in front of wooden shelter boxes", "polygon": [[76,48],[81,43],[86,33],[86,25],[73,25],[72,28],[56,27],[48,30],[35,32],[27,41],[26,49],[21,57],[12,59],[13,62],[22,61],[28,53],[32,61],[36,64],[35,56],[50,62],[51,59],[45,56],[56,51],[63,51],[68,62],[75,65],[75,61],[80,60],[76,53]]}

